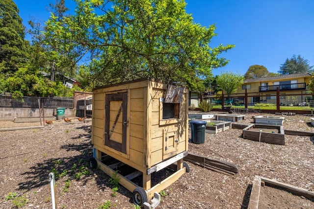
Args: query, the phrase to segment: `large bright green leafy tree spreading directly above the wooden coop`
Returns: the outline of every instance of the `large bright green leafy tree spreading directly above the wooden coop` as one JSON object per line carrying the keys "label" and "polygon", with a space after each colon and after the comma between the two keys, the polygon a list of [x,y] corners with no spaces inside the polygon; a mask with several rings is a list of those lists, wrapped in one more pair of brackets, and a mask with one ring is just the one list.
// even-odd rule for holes
{"label": "large bright green leafy tree spreading directly above the wooden coop", "polygon": [[44,36],[56,40],[58,55],[89,62],[94,86],[154,77],[198,88],[194,78],[225,66],[228,60],[218,55],[234,46],[209,46],[215,25],[193,23],[185,5],[184,0],[77,0],[74,15],[60,20],[52,14]]}

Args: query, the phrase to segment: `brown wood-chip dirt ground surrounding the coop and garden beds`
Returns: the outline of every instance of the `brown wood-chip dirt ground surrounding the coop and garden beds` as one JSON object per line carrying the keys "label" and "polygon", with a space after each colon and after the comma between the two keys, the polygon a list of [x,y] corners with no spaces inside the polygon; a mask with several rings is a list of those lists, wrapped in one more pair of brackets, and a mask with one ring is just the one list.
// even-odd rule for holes
{"label": "brown wood-chip dirt ground surrounding the coop and garden beds", "polygon": [[[246,114],[237,123],[252,124],[253,115],[274,116]],[[284,117],[285,130],[314,132],[310,116]],[[0,122],[0,128],[37,125],[40,123]],[[206,133],[205,143],[189,143],[190,152],[236,163],[239,172],[229,176],[187,162],[190,172],[165,189],[157,209],[245,209],[255,175],[314,191],[313,137],[285,135],[286,144],[276,145],[242,139],[241,134],[239,129]],[[134,208],[130,191],[123,186],[112,191],[110,178],[101,170],[89,168],[91,122],[55,121],[45,128],[3,131],[0,135],[1,209],[52,208],[50,172],[56,174],[58,208],[96,209],[105,203],[109,208]],[[263,192],[265,208],[314,208],[314,202],[308,199],[293,201],[280,196],[271,201],[273,197],[278,197],[278,190]]]}

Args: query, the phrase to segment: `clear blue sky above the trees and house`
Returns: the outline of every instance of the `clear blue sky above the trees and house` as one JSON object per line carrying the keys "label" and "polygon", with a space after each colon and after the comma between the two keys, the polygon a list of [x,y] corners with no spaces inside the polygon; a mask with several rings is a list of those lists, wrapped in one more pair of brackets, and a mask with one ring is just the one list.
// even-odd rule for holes
{"label": "clear blue sky above the trees and house", "polygon": [[[26,27],[30,17],[46,21],[55,0],[14,0]],[[244,74],[251,65],[278,72],[287,58],[301,55],[314,66],[314,0],[185,0],[195,23],[216,25],[211,47],[233,44],[222,53],[230,60],[214,75],[233,71]],[[74,9],[72,0],[66,6]]]}

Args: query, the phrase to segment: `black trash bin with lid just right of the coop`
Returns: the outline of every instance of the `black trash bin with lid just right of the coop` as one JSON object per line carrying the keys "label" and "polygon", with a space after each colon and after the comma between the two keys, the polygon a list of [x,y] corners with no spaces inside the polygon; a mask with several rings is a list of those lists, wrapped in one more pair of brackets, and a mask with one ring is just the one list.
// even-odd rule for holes
{"label": "black trash bin with lid just right of the coop", "polygon": [[191,120],[191,141],[195,144],[205,143],[206,121]]}

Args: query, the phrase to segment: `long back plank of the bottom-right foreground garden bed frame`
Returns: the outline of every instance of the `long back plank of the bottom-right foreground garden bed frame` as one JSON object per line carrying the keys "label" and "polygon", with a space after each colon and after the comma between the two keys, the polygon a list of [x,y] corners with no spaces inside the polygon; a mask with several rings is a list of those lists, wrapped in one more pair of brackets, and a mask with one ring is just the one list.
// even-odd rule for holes
{"label": "long back plank of the bottom-right foreground garden bed frame", "polygon": [[281,187],[281,188],[288,190],[289,192],[291,192],[295,195],[303,196],[303,197],[306,197],[310,200],[314,200],[314,192],[312,192],[312,191],[306,190],[304,188],[288,185],[288,184],[285,184],[282,182],[278,182],[276,180],[268,179],[268,178],[265,178],[262,176],[260,176],[260,178],[263,182],[265,182],[265,185],[278,186],[278,187]]}

